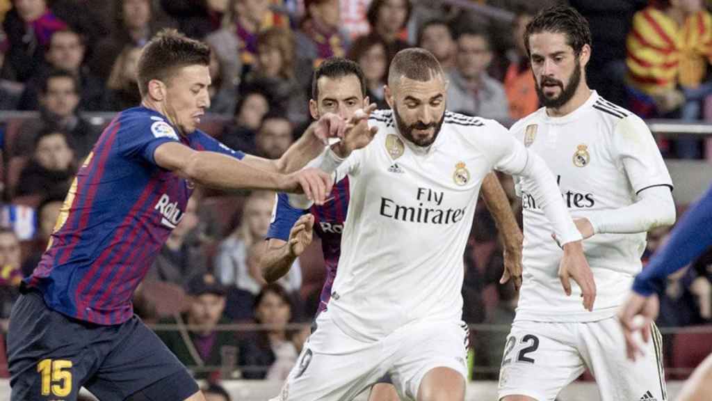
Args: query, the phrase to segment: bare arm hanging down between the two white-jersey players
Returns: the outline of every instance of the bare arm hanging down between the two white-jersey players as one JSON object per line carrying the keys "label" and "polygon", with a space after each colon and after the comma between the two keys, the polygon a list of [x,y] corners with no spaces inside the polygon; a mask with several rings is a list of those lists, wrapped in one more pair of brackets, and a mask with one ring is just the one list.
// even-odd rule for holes
{"label": "bare arm hanging down between the two white-jersey players", "polygon": [[494,218],[503,237],[504,272],[500,283],[513,278],[514,288],[522,285],[522,231],[512,213],[507,194],[495,173],[489,173],[482,181],[482,199]]}

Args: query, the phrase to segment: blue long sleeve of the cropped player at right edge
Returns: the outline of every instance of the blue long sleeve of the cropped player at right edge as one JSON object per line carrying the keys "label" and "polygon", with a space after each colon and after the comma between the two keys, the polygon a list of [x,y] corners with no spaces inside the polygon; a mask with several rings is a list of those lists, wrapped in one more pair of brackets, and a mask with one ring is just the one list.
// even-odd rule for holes
{"label": "blue long sleeve of the cropped player at right edge", "polygon": [[712,246],[712,187],[680,219],[668,242],[658,250],[633,282],[641,295],[659,295],[665,290],[668,275],[684,268]]}

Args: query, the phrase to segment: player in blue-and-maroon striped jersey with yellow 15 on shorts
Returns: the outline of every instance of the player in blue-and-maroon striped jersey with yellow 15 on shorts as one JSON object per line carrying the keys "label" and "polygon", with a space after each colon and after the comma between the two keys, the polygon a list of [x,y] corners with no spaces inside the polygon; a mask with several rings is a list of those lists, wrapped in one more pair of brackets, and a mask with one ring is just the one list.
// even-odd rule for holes
{"label": "player in blue-and-maroon striped jersey with yellow 15 on shorts", "polygon": [[100,136],[66,196],[41,262],[21,285],[8,333],[13,401],[204,400],[133,314],[132,294],[195,185],[304,191],[323,202],[328,174],[302,168],[340,121],[310,126],[278,161],[233,151],[197,130],[209,107],[209,48],[177,31],[147,44],[142,104]]}

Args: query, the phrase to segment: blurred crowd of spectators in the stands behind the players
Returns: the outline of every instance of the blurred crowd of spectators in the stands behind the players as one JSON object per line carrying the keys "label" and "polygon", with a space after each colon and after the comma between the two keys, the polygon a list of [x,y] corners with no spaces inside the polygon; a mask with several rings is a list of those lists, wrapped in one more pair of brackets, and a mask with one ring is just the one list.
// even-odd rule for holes
{"label": "blurred crowd of spectators in the stands behind the players", "polygon": [[[140,102],[137,59],[159,29],[211,47],[211,116],[201,128],[231,148],[279,158],[309,123],[313,68],[332,56],[360,64],[379,108],[390,59],[421,46],[448,71],[449,110],[505,124],[532,113],[539,104],[523,30],[553,2],[0,0],[0,318],[61,223],[73,176],[110,118],[102,112]],[[703,0],[568,3],[591,24],[592,88],[644,118],[712,120],[712,15]],[[668,158],[712,158],[697,138],[659,146]],[[274,200],[199,188],[137,292],[137,313],[197,377],[281,380],[309,333],[292,323],[308,323],[318,307],[318,240],[278,283],[266,284],[255,263]],[[649,233],[644,259],[665,235]],[[482,205],[464,258],[464,320],[511,324],[518,294],[498,284],[501,240]],[[711,280],[712,251],[669,280],[659,325],[709,324]],[[216,328],[231,324],[241,330]],[[498,366],[507,331],[473,332],[473,363]]]}

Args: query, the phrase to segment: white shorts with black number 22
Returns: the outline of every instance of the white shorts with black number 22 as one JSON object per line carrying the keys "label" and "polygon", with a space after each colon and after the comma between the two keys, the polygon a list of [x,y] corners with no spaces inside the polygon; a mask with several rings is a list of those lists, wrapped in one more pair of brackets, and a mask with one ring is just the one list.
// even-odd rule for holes
{"label": "white shorts with black number 22", "polygon": [[643,357],[627,359],[617,318],[585,323],[516,321],[499,373],[499,398],[526,395],[555,400],[588,367],[602,401],[667,400],[662,337],[653,328]]}

